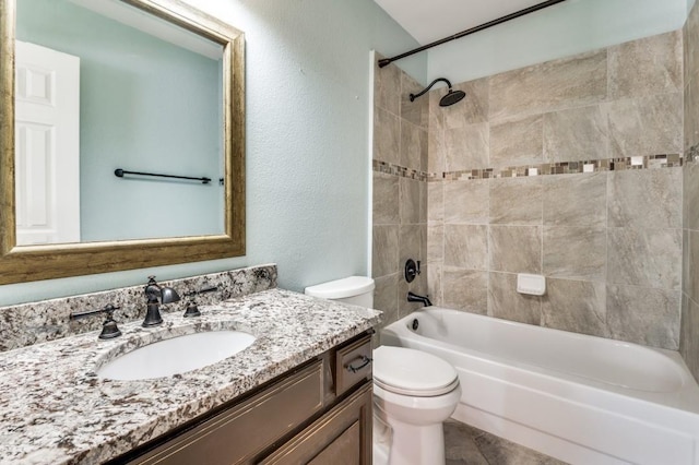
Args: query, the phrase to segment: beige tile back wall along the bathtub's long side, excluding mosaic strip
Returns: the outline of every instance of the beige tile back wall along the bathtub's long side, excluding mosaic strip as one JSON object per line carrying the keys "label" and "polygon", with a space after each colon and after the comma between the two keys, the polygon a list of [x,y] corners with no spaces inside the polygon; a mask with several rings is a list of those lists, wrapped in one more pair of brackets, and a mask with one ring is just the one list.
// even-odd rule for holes
{"label": "beige tile back wall along the bathtub's long side, excluding mosaic strip", "polygon": [[[427,168],[437,179],[683,153],[682,32],[455,87],[467,96],[448,108],[438,106],[443,88],[430,92]],[[437,303],[678,348],[683,168],[467,178],[428,182],[428,290]],[[517,273],[544,274],[547,294],[516,293]],[[699,313],[694,321],[699,337]]]}

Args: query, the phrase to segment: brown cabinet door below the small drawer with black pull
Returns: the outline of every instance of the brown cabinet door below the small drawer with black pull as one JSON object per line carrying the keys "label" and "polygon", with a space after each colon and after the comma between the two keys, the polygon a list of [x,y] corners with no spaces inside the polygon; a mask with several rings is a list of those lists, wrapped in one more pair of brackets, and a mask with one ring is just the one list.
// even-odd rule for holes
{"label": "brown cabinet door below the small drawer with black pull", "polygon": [[371,382],[261,461],[262,464],[371,464]]}

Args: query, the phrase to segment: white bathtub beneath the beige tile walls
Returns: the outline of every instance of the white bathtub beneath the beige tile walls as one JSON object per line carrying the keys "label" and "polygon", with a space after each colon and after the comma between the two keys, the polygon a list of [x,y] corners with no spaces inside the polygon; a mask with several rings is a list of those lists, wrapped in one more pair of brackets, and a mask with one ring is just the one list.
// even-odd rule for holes
{"label": "white bathtub beneath the beige tile walls", "polygon": [[454,419],[553,457],[699,465],[699,388],[675,351],[437,307],[388,325],[381,344],[448,360],[463,391]]}

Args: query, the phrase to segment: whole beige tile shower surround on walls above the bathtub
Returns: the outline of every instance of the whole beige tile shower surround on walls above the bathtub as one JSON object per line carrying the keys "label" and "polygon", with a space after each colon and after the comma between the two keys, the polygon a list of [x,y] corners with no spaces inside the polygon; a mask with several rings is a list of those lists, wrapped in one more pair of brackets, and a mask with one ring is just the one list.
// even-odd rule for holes
{"label": "whole beige tile shower surround on walls above the bathtub", "polygon": [[[447,108],[445,88],[410,103],[419,85],[377,68],[374,276],[387,322],[415,308],[403,301],[410,257],[424,269],[411,290],[436,305],[699,346],[699,299],[686,289],[683,307],[683,178],[697,171],[685,154],[699,142],[683,138],[698,111],[683,51],[694,56],[696,10],[684,31],[457,84],[466,98]],[[690,190],[685,203],[699,201]],[[545,275],[546,295],[517,294],[517,273]]]}

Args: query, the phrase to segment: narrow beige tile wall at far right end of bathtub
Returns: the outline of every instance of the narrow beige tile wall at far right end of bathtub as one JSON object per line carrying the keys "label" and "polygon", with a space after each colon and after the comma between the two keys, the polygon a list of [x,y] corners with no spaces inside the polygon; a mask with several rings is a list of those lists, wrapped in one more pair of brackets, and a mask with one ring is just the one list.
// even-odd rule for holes
{"label": "narrow beige tile wall at far right end of bathtub", "polygon": [[683,296],[679,351],[699,380],[699,8],[691,10],[684,33],[685,154],[683,168]]}

